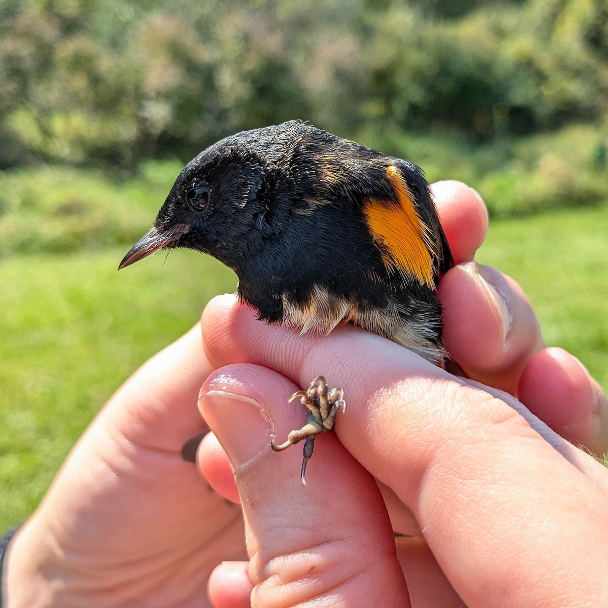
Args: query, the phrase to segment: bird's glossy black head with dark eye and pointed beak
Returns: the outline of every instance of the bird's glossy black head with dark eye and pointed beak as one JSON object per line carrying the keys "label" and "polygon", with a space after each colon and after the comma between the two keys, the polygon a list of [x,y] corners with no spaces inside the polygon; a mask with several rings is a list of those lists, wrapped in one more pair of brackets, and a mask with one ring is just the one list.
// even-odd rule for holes
{"label": "bird's glossy black head with dark eye and pointed beak", "polygon": [[[302,123],[246,131],[216,143],[176,179],[153,227],[125,255],[119,269],[162,249],[187,247],[238,264],[271,235],[271,199],[284,198],[275,178],[280,156]],[[272,131],[271,131],[272,130]],[[277,191],[278,188],[278,191]]]}

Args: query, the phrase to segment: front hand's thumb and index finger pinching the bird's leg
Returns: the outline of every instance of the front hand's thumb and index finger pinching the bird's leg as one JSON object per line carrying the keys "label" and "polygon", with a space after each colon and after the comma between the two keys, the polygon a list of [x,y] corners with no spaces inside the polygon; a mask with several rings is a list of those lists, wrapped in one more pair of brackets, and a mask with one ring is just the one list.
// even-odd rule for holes
{"label": "front hand's thumb and index finger pinching the bird's leg", "polygon": [[[219,369],[201,398],[250,554],[213,573],[216,608],[249,606],[249,592],[254,607],[606,603],[608,470],[510,395],[350,327],[302,339],[230,300],[206,316],[216,362],[250,361]],[[319,370],[348,387],[348,410],[342,443],[317,439],[301,486],[300,450],[275,454],[269,434],[297,425],[286,399]],[[422,530],[396,555],[374,478]]]}

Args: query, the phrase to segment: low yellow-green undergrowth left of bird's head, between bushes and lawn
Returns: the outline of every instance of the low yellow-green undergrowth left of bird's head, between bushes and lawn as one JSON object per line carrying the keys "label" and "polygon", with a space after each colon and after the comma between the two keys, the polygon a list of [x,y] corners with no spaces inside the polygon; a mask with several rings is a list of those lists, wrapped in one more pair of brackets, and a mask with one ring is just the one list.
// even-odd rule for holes
{"label": "low yellow-green undergrowth left of bird's head, between bushes and lawn", "polygon": [[120,186],[68,167],[0,172],[0,257],[131,245],[150,228],[181,168],[142,164]]}

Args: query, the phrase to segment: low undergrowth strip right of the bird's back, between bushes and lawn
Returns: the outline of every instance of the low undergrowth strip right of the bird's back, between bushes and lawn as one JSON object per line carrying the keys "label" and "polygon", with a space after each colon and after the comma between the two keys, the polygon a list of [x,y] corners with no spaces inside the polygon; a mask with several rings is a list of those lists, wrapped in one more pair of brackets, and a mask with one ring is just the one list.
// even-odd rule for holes
{"label": "low undergrowth strip right of the bird's back, between bushes and lawn", "polygon": [[361,130],[358,140],[415,162],[429,181],[474,185],[494,218],[608,199],[608,123],[477,145],[455,131],[437,137],[387,128]]}

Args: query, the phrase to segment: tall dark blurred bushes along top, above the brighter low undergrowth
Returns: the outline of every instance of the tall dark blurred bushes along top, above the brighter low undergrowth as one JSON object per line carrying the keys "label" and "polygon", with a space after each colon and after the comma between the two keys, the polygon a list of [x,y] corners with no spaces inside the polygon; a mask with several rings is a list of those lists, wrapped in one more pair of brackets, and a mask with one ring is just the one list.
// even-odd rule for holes
{"label": "tall dark blurred bushes along top, above the brighter low undergrowth", "polygon": [[489,141],[607,108],[603,0],[5,0],[2,13],[0,166],[133,169],[297,117]]}

